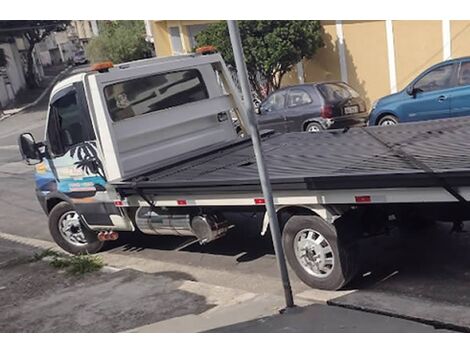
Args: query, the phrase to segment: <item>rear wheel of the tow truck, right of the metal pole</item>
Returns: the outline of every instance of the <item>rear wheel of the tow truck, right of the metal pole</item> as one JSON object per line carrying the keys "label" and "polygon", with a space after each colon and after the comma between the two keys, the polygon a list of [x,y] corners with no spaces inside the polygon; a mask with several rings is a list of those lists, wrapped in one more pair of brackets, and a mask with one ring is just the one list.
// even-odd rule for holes
{"label": "rear wheel of the tow truck, right of the metal pole", "polygon": [[[310,240],[305,234],[313,234]],[[284,252],[289,265],[300,280],[310,287],[322,290],[338,290],[346,285],[356,272],[355,251],[337,237],[335,228],[318,216],[294,215],[286,223],[283,230]],[[320,235],[323,239],[320,238]],[[319,241],[315,248],[311,240]],[[301,243],[310,246],[309,252],[299,251]],[[302,254],[304,253],[304,259]],[[323,254],[322,254],[323,253]],[[310,256],[310,258],[305,258]],[[313,262],[319,261],[315,266]],[[309,269],[307,267],[309,266]],[[322,273],[322,269],[324,273]],[[317,272],[315,272],[317,271]]]}

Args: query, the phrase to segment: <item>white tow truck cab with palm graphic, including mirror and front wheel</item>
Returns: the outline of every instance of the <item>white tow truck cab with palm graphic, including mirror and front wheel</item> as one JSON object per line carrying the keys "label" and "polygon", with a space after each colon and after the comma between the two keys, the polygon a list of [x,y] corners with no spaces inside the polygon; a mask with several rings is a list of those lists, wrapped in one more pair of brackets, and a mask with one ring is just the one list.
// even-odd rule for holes
{"label": "white tow truck cab with palm graphic, including mirror and front wheel", "polygon": [[62,248],[94,253],[135,229],[112,182],[238,138],[225,70],[218,54],[104,63],[53,88],[43,140],[19,144]]}

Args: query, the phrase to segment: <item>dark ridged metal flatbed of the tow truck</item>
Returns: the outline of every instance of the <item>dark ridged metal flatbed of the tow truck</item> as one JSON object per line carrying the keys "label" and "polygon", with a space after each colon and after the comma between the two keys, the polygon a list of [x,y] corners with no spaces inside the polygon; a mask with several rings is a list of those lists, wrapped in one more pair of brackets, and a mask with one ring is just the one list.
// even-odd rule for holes
{"label": "dark ridged metal flatbed of the tow truck", "polygon": [[[470,117],[268,134],[262,144],[274,191],[470,186]],[[249,139],[114,184],[125,196],[260,189]]]}

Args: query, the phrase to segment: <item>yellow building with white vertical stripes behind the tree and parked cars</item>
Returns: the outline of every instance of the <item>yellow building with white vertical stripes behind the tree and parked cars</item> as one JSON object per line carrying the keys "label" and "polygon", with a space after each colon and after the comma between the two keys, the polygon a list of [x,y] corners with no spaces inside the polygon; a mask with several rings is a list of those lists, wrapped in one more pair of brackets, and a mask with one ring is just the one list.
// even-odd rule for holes
{"label": "yellow building with white vertical stripes behind the tree and parked cars", "polygon": [[[210,22],[151,21],[157,56],[190,52]],[[470,56],[470,20],[321,22],[325,47],[286,75],[284,85],[343,80],[370,105],[437,62]]]}

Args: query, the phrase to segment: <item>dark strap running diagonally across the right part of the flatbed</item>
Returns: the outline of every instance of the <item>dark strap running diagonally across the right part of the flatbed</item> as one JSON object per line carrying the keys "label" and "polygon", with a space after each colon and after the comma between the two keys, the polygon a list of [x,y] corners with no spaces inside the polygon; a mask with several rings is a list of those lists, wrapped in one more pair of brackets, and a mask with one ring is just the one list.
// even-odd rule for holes
{"label": "dark strap running diagonally across the right part of the flatbed", "polygon": [[462,203],[468,203],[468,201],[462,197],[462,195],[449,183],[446,181],[445,178],[439,176],[434,172],[432,168],[430,168],[428,165],[426,165],[424,162],[416,159],[414,156],[408,154],[405,152],[402,148],[391,145],[390,143],[387,143],[384,141],[382,138],[377,136],[375,133],[371,131],[370,128],[364,128],[363,129],[369,136],[374,138],[377,142],[381,143],[384,145],[386,148],[388,148],[394,155],[398,156],[400,159],[405,160],[408,164],[410,164],[413,167],[417,167],[425,172],[426,175],[428,175],[430,178],[432,178],[434,181],[437,182],[437,184],[444,188],[447,192],[449,192],[455,199],[457,199],[459,202]]}

